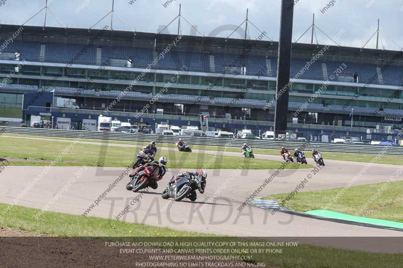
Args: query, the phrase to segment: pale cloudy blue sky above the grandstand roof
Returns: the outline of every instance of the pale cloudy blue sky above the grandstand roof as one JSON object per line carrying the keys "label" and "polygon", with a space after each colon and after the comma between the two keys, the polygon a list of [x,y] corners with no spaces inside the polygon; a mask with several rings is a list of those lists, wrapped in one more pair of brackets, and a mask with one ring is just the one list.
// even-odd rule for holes
{"label": "pale cloudy blue sky above the grandstand roof", "polygon": [[[112,0],[48,0],[47,26],[68,28],[92,27],[107,15]],[[380,19],[379,48],[398,50],[403,47],[403,0],[294,0],[293,41],[296,41],[312,25],[315,14],[316,40],[319,44],[333,44],[323,33],[342,46],[362,47],[376,32]],[[240,25],[249,9],[248,38],[254,39],[259,30],[267,33],[267,39],[279,40],[280,0],[115,0],[113,29],[156,33],[168,25],[179,12],[182,4],[181,32],[185,35],[227,37]],[[45,0],[0,0],[0,23],[17,24],[29,20],[45,6]],[[323,10],[325,7],[327,8]],[[53,16],[54,15],[54,16]],[[43,10],[26,25],[43,26]],[[57,18],[57,19],[56,19]],[[94,28],[110,25],[108,15]],[[198,32],[185,22],[197,26]],[[166,31],[176,33],[178,21]],[[245,24],[238,30],[244,32]],[[234,33],[232,38],[243,38]],[[298,42],[310,43],[309,30]],[[376,35],[366,48],[375,48]]]}

